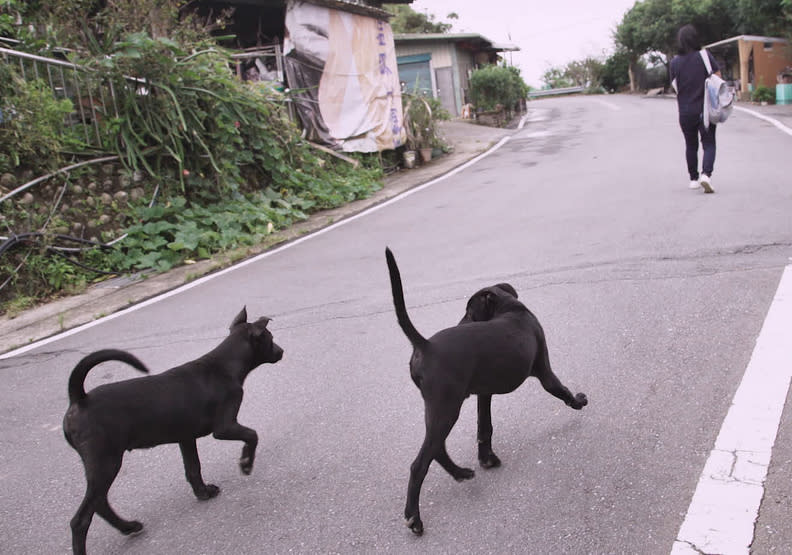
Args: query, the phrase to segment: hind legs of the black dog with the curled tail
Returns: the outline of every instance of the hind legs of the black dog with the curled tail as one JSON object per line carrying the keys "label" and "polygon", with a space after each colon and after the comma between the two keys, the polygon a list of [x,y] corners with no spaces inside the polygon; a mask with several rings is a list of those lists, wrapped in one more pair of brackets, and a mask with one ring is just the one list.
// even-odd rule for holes
{"label": "hind legs of the black dog with the curled tail", "polygon": [[85,555],[85,541],[88,536],[88,528],[91,526],[94,513],[99,513],[112,526],[123,534],[133,534],[143,529],[143,525],[137,521],[127,521],[120,518],[110,504],[107,502],[107,492],[113,485],[121,470],[121,460],[123,452],[120,454],[94,455],[92,453],[80,453],[85,466],[85,478],[88,482],[85,497],[77,509],[77,513],[71,519],[72,529],[72,551],[76,555]]}

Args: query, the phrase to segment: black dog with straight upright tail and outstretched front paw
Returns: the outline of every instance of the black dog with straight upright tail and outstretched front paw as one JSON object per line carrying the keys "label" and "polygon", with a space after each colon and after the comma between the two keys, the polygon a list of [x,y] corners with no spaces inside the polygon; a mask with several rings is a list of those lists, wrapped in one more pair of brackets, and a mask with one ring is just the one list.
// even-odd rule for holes
{"label": "black dog with straight upright tail and outstretched front paw", "polygon": [[455,480],[474,476],[473,470],[457,466],[445,447],[465,398],[478,396],[478,458],[484,468],[500,465],[492,452],[492,395],[514,391],[526,378],[535,376],[545,390],[573,409],[583,408],[588,401],[583,393],[573,395],[553,374],[542,327],[517,300],[511,285],[478,291],[468,301],[459,325],[426,339],[407,315],[399,268],[390,249],[385,249],[385,257],[396,317],[413,346],[410,376],[424,399],[426,435],[410,466],[404,509],[407,526],[420,535],[423,522],[418,501],[432,461],[440,463]]}

